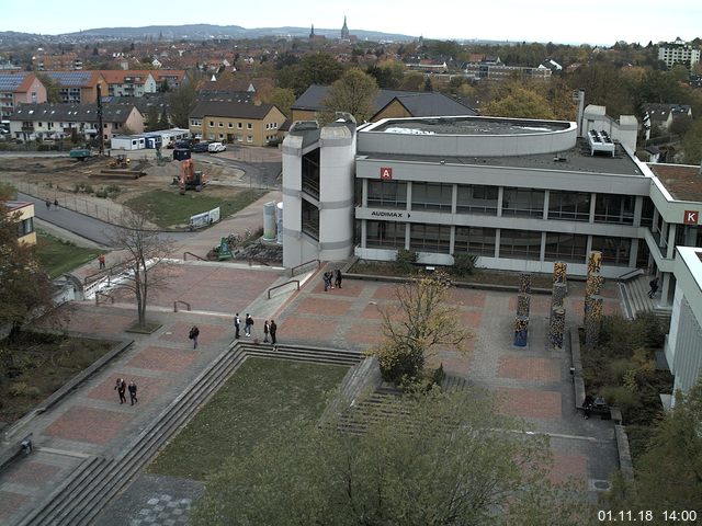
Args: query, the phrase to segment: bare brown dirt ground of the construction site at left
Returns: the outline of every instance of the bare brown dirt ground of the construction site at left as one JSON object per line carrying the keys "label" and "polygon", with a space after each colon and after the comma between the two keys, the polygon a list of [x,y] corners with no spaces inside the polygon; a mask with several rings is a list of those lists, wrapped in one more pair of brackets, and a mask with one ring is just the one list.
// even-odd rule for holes
{"label": "bare brown dirt ground of the construction site at left", "polygon": [[[152,150],[151,150],[152,151]],[[152,153],[151,153],[152,156]],[[170,151],[165,152],[170,156]],[[143,151],[134,152],[129,170],[143,171],[145,175],[136,179],[133,174],[102,173],[109,171],[109,157],[93,157],[84,162],[68,157],[7,157],[1,158],[0,181],[12,183],[20,192],[46,198],[58,199],[60,206],[104,219],[115,217],[122,210],[122,204],[145,192],[167,190],[174,178],[181,173],[178,161],[158,165],[152,157]],[[193,159],[195,170],[202,171],[208,179],[207,194],[213,197],[231,195],[233,187],[247,186],[244,171]],[[94,193],[77,187],[100,191],[117,186],[118,192],[105,199]]]}

